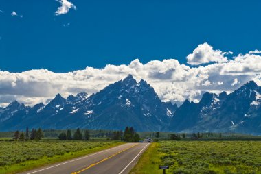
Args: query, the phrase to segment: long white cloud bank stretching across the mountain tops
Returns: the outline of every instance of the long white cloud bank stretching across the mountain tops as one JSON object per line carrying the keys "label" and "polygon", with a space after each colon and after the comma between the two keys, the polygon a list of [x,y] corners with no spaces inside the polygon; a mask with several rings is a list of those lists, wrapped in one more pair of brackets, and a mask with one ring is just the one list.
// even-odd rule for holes
{"label": "long white cloud bank stretching across the mountain tops", "polygon": [[[145,79],[163,101],[178,105],[188,99],[197,102],[203,92],[233,91],[254,80],[261,86],[260,51],[227,58],[231,52],[214,50],[204,43],[187,56],[188,64],[178,60],[153,60],[142,64],[107,65],[103,69],[87,67],[68,73],[47,69],[10,73],[0,71],[0,105],[17,100],[25,105],[47,102],[57,93],[64,97],[85,91],[89,95],[132,74],[138,81]],[[193,65],[193,66],[191,66]]]}

